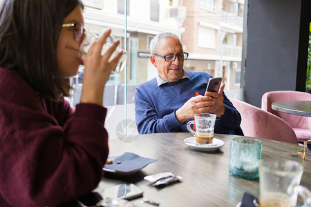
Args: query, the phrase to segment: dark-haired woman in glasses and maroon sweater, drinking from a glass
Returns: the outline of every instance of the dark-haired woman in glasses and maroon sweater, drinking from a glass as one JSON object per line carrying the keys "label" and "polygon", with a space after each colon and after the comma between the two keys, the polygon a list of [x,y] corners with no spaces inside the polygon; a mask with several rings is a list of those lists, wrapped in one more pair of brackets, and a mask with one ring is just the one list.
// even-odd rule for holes
{"label": "dark-haired woman in glasses and maroon sweater, drinking from a glass", "polygon": [[[78,58],[80,0],[0,1],[0,206],[56,206],[91,192],[109,153],[104,86],[122,52],[111,30]],[[85,66],[80,103],[68,77]]]}

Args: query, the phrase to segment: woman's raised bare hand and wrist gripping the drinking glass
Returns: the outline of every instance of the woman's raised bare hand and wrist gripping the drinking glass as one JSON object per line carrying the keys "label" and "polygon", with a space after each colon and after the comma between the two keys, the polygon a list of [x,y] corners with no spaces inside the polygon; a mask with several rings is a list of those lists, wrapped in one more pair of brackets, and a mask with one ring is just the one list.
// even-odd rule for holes
{"label": "woman's raised bare hand and wrist gripping the drinking glass", "polygon": [[113,45],[101,55],[102,47],[106,43],[111,29],[102,34],[102,37],[95,41],[86,54],[84,61],[84,77],[82,80],[81,103],[95,103],[102,106],[104,86],[109,79],[111,71],[117,66],[117,62],[122,56],[120,52],[115,58],[109,61],[111,55],[119,45],[120,41],[115,41]]}

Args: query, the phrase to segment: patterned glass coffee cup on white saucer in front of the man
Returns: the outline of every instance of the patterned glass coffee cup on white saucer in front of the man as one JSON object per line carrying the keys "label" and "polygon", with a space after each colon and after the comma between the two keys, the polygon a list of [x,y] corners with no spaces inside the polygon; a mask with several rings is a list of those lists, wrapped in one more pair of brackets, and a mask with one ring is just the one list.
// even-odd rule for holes
{"label": "patterned glass coffee cup on white saucer in front of the man", "polygon": [[[211,144],[214,138],[216,115],[213,114],[196,114],[194,121],[187,123],[187,130],[196,137],[196,145]],[[191,128],[195,124],[196,130]]]}

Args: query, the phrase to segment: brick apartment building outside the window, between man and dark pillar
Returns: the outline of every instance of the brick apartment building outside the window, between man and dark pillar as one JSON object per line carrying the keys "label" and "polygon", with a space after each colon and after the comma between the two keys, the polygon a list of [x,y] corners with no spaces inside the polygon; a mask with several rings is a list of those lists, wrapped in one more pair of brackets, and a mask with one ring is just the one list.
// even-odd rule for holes
{"label": "brick apartment building outside the window, between man and dark pillar", "polygon": [[240,88],[243,1],[182,1],[187,7],[182,43],[188,70],[223,77],[226,90]]}

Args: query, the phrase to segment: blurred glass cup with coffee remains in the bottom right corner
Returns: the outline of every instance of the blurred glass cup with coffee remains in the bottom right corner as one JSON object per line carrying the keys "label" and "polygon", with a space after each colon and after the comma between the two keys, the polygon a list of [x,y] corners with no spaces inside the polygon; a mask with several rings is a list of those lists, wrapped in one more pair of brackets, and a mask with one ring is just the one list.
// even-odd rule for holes
{"label": "blurred glass cup with coffee remains in the bottom right corner", "polygon": [[300,186],[302,175],[303,166],[297,161],[259,161],[260,206],[294,207],[298,195],[303,199],[303,206],[310,206],[310,190]]}

